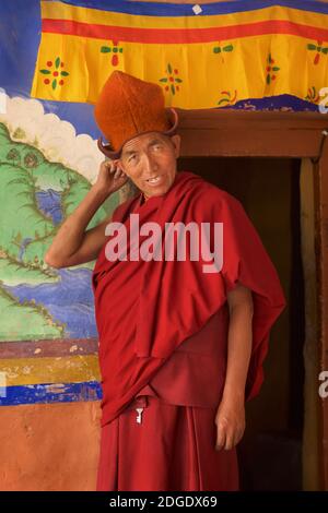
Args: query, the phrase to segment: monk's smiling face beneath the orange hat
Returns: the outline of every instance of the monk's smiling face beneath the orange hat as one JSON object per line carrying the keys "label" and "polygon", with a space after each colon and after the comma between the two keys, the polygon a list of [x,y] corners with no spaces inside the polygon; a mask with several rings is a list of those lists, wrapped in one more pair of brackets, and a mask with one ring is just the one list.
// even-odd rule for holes
{"label": "monk's smiling face beneath the orange hat", "polygon": [[124,172],[145,199],[165,194],[174,182],[180,136],[150,132],[128,141],[121,152]]}

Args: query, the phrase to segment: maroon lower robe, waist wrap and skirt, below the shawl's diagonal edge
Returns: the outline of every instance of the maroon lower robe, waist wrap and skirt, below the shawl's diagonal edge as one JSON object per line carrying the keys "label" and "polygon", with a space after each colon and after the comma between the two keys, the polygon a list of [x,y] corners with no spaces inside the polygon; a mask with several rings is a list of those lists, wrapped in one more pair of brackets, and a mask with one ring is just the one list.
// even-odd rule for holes
{"label": "maroon lower robe, waist wrap and skirt, below the shawl's diagonal edge", "polygon": [[238,489],[235,449],[215,450],[226,315],[226,308],[221,309],[187,338],[133,402],[102,428],[98,491]]}

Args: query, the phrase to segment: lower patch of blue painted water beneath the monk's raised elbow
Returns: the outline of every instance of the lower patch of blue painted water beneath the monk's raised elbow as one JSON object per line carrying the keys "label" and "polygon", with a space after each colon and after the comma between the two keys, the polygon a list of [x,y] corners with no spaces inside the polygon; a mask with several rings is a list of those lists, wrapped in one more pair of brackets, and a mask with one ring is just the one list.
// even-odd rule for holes
{"label": "lower patch of blue painted water beneath the monk's raised elbow", "polygon": [[89,269],[57,270],[60,281],[52,284],[3,286],[20,302],[34,299],[47,308],[55,320],[67,324],[65,337],[97,336],[94,296]]}

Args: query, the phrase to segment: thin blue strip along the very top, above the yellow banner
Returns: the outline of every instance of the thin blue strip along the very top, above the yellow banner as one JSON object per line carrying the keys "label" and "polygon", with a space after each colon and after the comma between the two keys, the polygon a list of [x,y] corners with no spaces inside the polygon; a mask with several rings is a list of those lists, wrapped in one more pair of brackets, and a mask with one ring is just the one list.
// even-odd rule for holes
{"label": "thin blue strip along the very top, above the yellow banner", "polygon": [[[99,9],[103,11],[120,12],[125,14],[138,14],[144,16],[195,16],[194,4],[179,3],[148,3],[130,2],[127,0],[62,0],[62,3],[86,9]],[[195,1],[197,3],[197,1]],[[229,14],[234,12],[255,11],[272,5],[298,9],[301,11],[312,11],[328,14],[328,3],[317,0],[236,0],[234,2],[202,3],[201,14]]]}

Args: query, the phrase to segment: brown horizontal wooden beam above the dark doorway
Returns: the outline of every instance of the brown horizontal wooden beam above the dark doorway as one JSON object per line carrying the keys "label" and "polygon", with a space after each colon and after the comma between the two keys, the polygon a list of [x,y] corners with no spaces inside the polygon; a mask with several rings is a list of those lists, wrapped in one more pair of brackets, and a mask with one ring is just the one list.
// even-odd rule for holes
{"label": "brown horizontal wooden beam above the dark doorway", "polygon": [[317,157],[328,116],[177,109],[181,156]]}

